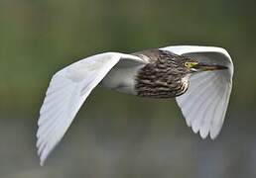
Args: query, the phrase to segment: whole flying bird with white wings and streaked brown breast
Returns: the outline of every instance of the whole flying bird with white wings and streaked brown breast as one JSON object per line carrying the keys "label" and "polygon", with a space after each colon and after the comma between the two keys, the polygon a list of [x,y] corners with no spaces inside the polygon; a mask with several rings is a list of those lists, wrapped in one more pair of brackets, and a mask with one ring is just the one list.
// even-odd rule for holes
{"label": "whole flying bird with white wings and streaked brown breast", "polygon": [[224,121],[232,76],[230,55],[215,46],[104,52],[74,62],[53,76],[40,110],[40,163],[44,164],[97,85],[139,97],[176,98],[192,131],[213,139]]}

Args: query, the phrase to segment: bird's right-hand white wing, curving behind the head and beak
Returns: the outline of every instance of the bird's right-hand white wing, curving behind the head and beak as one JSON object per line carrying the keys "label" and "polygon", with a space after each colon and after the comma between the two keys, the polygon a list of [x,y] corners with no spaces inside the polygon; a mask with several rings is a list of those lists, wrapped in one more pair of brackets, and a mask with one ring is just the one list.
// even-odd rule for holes
{"label": "bird's right-hand white wing, curving behind the head and beak", "polygon": [[232,89],[233,63],[221,47],[174,45],[163,47],[177,54],[192,56],[227,66],[226,70],[200,72],[192,75],[188,91],[176,98],[189,127],[202,138],[219,134]]}

